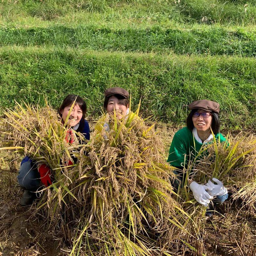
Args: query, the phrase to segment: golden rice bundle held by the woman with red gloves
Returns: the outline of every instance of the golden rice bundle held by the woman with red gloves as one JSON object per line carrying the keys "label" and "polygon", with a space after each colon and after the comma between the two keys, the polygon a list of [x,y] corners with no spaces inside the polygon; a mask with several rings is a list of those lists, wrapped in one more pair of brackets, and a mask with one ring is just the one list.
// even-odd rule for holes
{"label": "golden rice bundle held by the woman with red gloves", "polygon": [[[54,177],[59,180],[68,174],[66,163],[71,158],[71,151],[79,148],[83,136],[74,136],[74,143],[67,142],[67,130],[60,116],[48,105],[36,108],[28,104],[22,107],[17,103],[14,109],[4,111],[0,129],[4,134],[2,149],[17,149],[22,155],[33,158],[38,164],[45,163],[54,170]],[[68,179],[66,179],[68,181]]]}

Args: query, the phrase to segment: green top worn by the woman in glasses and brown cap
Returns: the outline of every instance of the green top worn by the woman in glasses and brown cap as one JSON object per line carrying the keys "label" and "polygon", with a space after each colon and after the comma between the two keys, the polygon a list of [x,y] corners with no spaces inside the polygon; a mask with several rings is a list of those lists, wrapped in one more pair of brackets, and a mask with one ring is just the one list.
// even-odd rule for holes
{"label": "green top worn by the woman in glasses and brown cap", "polygon": [[[226,141],[221,133],[215,134],[215,138],[220,142]],[[187,167],[189,157],[193,160],[202,145],[194,139],[193,132],[188,127],[184,127],[174,134],[167,162],[175,167],[183,167],[185,162],[185,167]]]}

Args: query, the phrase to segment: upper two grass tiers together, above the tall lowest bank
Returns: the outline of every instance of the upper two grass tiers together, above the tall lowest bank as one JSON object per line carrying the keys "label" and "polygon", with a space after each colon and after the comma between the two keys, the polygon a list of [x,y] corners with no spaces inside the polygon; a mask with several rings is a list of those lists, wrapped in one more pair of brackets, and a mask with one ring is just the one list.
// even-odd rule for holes
{"label": "upper two grass tiers together, above the tall lowest bank", "polygon": [[4,1],[0,14],[1,46],[256,55],[255,0]]}

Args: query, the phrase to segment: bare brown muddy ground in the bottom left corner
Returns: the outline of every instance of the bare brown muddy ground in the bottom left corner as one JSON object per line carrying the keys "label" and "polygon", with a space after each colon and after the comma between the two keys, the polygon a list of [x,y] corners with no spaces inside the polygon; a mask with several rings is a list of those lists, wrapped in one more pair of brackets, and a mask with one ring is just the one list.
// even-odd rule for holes
{"label": "bare brown muddy ground in the bottom left corner", "polygon": [[22,191],[16,184],[16,175],[10,170],[1,170],[0,181],[5,189],[1,190],[0,199],[0,255],[61,255],[59,245],[62,239],[58,241],[47,233],[43,216],[31,218],[35,204],[31,207],[19,204]]}

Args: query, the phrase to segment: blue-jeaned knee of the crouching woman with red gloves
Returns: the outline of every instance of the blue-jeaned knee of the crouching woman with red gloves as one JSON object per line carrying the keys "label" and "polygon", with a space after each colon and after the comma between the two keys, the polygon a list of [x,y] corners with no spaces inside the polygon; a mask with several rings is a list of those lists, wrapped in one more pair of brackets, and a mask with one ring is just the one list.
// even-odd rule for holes
{"label": "blue-jeaned knee of the crouching woman with red gloves", "polygon": [[36,191],[40,187],[40,174],[36,164],[30,161],[21,164],[17,180],[26,190]]}

